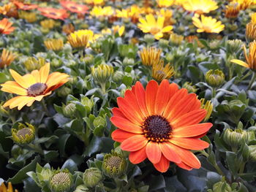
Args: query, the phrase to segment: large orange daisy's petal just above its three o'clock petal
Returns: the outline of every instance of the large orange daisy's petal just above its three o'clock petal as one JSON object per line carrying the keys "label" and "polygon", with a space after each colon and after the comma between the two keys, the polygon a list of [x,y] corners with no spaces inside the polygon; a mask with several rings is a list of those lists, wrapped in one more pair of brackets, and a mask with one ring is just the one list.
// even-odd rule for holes
{"label": "large orange daisy's petal just above its three o'clock petal", "polygon": [[180,118],[173,120],[171,126],[179,128],[181,126],[191,126],[200,123],[206,117],[206,110],[195,110],[182,115]]}

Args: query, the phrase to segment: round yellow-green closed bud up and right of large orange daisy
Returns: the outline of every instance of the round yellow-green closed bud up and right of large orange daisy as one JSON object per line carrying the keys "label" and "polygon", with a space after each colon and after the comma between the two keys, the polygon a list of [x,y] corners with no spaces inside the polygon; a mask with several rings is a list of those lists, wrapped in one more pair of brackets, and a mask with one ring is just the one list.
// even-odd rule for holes
{"label": "round yellow-green closed bud up and right of large orange daisy", "polygon": [[213,88],[218,88],[225,81],[225,74],[219,69],[209,70],[205,77],[207,84]]}

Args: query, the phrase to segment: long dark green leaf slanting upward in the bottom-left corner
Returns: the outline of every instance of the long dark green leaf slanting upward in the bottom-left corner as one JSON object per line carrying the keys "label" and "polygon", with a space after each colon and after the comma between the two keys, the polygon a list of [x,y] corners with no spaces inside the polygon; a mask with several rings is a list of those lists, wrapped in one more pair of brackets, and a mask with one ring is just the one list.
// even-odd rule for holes
{"label": "long dark green leaf slanting upward in the bottom-left corner", "polygon": [[30,164],[23,167],[23,169],[20,169],[20,171],[17,174],[15,174],[14,177],[10,178],[8,180],[8,182],[11,182],[12,184],[22,183],[22,180],[24,180],[28,177],[28,175],[26,173],[34,171],[36,169],[37,163],[39,161],[40,161],[40,157],[39,156],[35,157],[34,160],[31,161]]}

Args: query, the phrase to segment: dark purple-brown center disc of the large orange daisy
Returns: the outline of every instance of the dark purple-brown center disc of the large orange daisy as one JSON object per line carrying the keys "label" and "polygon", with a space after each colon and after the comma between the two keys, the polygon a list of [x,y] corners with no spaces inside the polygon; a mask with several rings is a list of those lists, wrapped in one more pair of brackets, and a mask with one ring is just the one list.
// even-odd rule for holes
{"label": "dark purple-brown center disc of the large orange daisy", "polygon": [[151,115],[143,122],[143,133],[148,141],[165,142],[170,139],[172,128],[161,115]]}

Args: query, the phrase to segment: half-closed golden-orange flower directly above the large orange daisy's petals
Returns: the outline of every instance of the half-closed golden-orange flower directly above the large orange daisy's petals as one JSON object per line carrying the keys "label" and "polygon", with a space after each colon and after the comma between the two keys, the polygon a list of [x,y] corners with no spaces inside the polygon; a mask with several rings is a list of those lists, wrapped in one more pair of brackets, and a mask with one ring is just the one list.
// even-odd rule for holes
{"label": "half-closed golden-orange flower directly above the large orange daisy's petals", "polygon": [[152,66],[152,77],[159,82],[165,79],[170,79],[170,77],[173,77],[174,73],[173,66],[170,66],[170,64],[165,65],[165,62],[162,59],[159,63]]}

